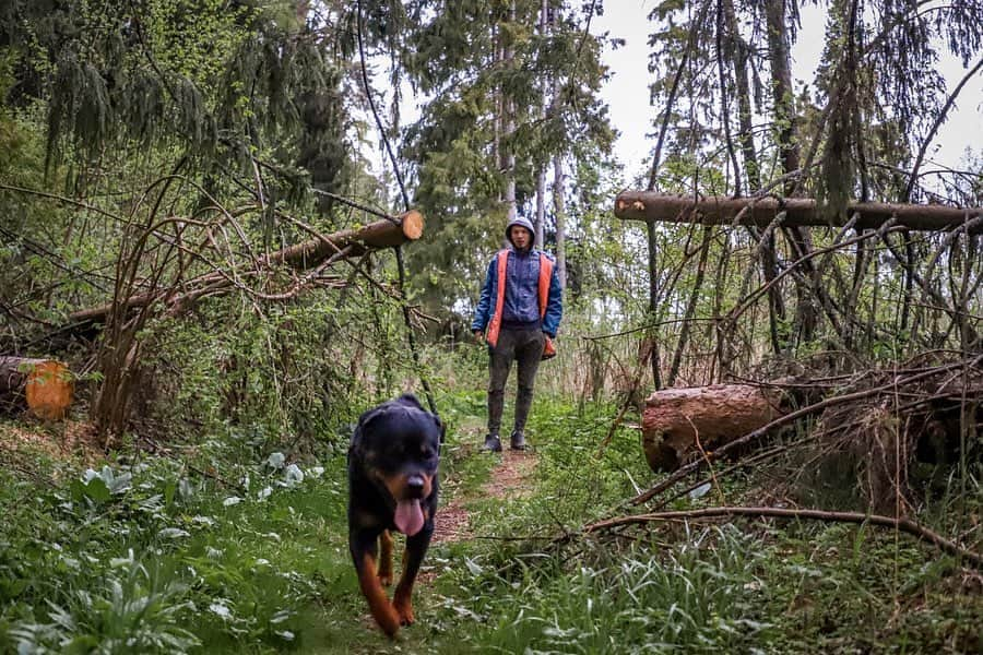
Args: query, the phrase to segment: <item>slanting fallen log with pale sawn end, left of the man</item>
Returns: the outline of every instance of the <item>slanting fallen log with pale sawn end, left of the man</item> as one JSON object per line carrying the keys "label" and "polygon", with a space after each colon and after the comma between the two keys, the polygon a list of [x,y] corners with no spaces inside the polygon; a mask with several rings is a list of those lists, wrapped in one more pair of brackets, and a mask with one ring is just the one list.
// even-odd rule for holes
{"label": "slanting fallen log with pale sawn end, left of the man", "polygon": [[[260,263],[274,266],[287,265],[297,271],[306,271],[320,265],[346,248],[348,250],[342,259],[359,257],[368,250],[393,248],[407,241],[415,241],[423,236],[423,214],[416,210],[411,210],[392,221],[376,221],[358,229],[332,233],[324,235],[323,238],[310,239],[296,246],[271,252],[269,257],[260,258]],[[232,285],[227,283],[227,277],[221,273],[208,273],[189,281],[186,288],[208,289],[212,294],[215,291],[216,285],[232,288]],[[188,298],[196,298],[199,295],[198,291],[192,290],[176,297],[173,301],[183,303]],[[158,298],[159,295],[157,294],[141,294],[130,297],[127,305],[130,308],[146,307]],[[106,317],[109,315],[111,309],[112,303],[82,309],[69,314],[69,320],[75,326],[105,323]]]}

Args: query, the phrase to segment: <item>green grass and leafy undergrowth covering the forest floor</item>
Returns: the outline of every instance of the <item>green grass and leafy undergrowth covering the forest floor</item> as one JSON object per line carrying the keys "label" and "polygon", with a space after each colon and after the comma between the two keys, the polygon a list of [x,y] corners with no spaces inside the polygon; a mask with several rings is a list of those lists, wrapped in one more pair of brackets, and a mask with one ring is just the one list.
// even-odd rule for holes
{"label": "green grass and leafy undergrowth covering the forest floor", "polygon": [[[983,647],[980,575],[890,531],[741,520],[579,534],[656,479],[636,432],[604,443],[608,406],[537,398],[535,471],[510,490],[521,493],[485,493],[499,456],[477,452],[483,395],[440,398],[442,504],[467,508],[474,538],[431,547],[417,623],[394,642],[367,618],[347,553],[344,449],[283,456],[275,443],[223,434],[180,456],[86,471],[22,455],[0,473],[0,652]],[[755,485],[727,479],[720,492],[736,503]],[[966,499],[971,515],[979,501]]]}

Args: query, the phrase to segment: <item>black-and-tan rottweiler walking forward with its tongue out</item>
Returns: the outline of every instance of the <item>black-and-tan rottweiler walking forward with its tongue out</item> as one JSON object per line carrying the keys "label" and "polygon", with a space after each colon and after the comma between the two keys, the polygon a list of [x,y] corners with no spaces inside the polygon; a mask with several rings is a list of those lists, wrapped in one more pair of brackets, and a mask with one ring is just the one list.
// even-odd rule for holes
{"label": "black-and-tan rottweiler walking forward with its tongue out", "polygon": [[[386,634],[413,622],[411,595],[437,511],[437,465],[445,427],[412,394],[358,419],[348,448],[348,548],[372,618]],[[406,535],[392,603],[392,531]],[[378,561],[377,561],[378,560]]]}

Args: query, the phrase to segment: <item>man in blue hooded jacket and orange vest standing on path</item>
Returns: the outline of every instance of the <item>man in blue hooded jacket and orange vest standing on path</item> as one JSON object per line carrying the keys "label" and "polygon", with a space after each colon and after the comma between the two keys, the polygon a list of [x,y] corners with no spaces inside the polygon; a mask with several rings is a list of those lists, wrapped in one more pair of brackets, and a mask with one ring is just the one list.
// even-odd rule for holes
{"label": "man in blue hooded jacket and orange vest standing on path", "polygon": [[509,445],[525,450],[525,419],[532,406],[533,382],[540,360],[556,354],[553,338],[562,318],[562,290],[554,259],[533,248],[533,227],[516,217],[506,227],[511,248],[488,264],[488,274],[471,331],[488,343],[488,436],[483,450],[501,451],[498,430],[505,384],[512,360],[518,361],[519,390],[516,421]]}

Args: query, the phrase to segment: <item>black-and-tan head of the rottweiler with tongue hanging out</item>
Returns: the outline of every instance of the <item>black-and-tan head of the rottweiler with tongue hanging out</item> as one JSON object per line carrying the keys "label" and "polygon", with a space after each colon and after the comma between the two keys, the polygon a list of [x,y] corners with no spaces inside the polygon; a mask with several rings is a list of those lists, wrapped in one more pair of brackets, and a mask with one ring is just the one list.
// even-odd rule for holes
{"label": "black-and-tan head of the rottweiler with tongue hanging out", "polygon": [[406,394],[369,409],[352,436],[350,458],[382,487],[393,502],[393,523],[407,536],[426,522],[422,505],[436,490],[445,427]]}

